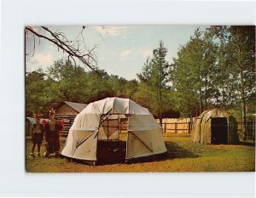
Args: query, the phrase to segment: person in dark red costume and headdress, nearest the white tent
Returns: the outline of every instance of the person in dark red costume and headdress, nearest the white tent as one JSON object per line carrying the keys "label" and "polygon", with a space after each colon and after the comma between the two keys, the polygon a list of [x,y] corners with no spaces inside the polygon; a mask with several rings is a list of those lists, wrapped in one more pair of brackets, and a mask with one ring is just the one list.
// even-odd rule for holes
{"label": "person in dark red costume and headdress, nearest the white tent", "polygon": [[44,139],[46,151],[44,156],[49,156],[49,154],[54,154],[54,156],[59,156],[60,152],[60,123],[55,120],[55,110],[49,110],[49,122],[46,124]]}

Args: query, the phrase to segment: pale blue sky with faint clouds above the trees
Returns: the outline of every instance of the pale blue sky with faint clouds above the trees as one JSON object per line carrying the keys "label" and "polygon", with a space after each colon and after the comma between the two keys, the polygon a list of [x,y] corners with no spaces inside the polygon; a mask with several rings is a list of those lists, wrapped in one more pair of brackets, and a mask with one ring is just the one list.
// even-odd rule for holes
{"label": "pale blue sky with faint clouds above the trees", "polygon": [[[51,31],[61,31],[73,40],[82,30],[79,26],[47,26]],[[83,31],[87,48],[96,45],[96,60],[99,69],[109,75],[122,76],[127,80],[137,79],[137,73],[142,71],[147,57],[153,55],[153,49],[159,47],[160,40],[164,42],[168,53],[166,60],[172,63],[172,58],[177,56],[178,48],[189,41],[198,25],[153,25],[153,26],[86,26]],[[201,30],[207,26],[201,25]],[[37,27],[34,27],[37,29]],[[44,33],[41,31],[41,33]],[[44,39],[26,35],[26,71],[35,71],[42,68],[44,71],[54,61],[67,58],[52,43]],[[83,66],[82,64],[79,64]],[[90,69],[86,69],[90,71]]]}

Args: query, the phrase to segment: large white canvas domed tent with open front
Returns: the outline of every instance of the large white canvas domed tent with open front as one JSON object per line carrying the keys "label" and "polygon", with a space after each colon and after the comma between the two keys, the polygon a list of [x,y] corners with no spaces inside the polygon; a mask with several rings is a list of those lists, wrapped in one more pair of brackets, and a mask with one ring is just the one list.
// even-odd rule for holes
{"label": "large white canvas domed tent with open front", "polygon": [[166,152],[162,127],[146,108],[131,99],[107,98],[90,103],[76,116],[61,155],[97,161],[98,140],[111,139],[117,131],[102,127],[103,122],[120,117],[128,118],[126,160]]}

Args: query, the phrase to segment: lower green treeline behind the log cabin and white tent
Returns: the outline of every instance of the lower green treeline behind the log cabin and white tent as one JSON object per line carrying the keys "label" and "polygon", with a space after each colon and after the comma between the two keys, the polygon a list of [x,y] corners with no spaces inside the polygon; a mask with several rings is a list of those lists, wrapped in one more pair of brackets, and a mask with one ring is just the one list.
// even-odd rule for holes
{"label": "lower green treeline behind the log cabin and white tent", "polygon": [[26,116],[44,113],[61,101],[89,104],[107,97],[132,98],[137,81],[108,76],[106,71],[84,71],[71,61],[55,61],[47,71],[26,73]]}

